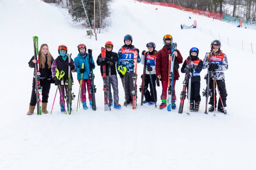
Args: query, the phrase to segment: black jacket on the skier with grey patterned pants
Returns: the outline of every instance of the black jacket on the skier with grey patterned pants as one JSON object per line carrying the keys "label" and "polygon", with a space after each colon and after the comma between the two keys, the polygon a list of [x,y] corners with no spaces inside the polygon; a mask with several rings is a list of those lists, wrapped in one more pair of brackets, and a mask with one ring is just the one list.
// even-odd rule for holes
{"label": "black jacket on the skier with grey patterned pants", "polygon": [[99,58],[101,58],[101,53],[100,55],[98,56],[97,58],[97,65],[100,66],[100,73],[101,73],[101,76],[103,76],[103,70],[102,70],[102,66],[104,64],[106,64],[106,74],[108,76],[108,61],[112,62],[113,63],[113,66],[111,67],[111,75],[116,75],[116,61],[118,59],[118,56],[117,56],[117,53],[115,52],[109,52],[109,51],[106,51],[106,59],[105,59],[105,62],[101,62],[99,61]]}

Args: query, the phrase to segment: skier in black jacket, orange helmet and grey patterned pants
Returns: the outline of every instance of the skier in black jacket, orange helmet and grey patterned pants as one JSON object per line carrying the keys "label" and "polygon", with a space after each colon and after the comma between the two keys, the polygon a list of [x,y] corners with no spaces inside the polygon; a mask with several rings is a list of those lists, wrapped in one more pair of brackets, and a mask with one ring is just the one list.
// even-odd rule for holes
{"label": "skier in black jacket, orange helmet and grey patterned pants", "polygon": [[[121,108],[121,105],[118,103],[119,101],[119,96],[118,96],[118,80],[116,76],[116,61],[118,59],[117,53],[113,52],[113,42],[107,41],[105,43],[105,48],[106,50],[106,57],[102,57],[101,53],[97,58],[97,65],[100,66],[100,72],[101,76],[103,76],[103,69],[102,66],[106,65],[106,76],[107,76],[107,81],[106,81],[106,86],[107,86],[107,95],[108,99],[108,105],[112,106],[113,105],[113,98],[112,98],[112,92],[111,92],[111,87],[110,83],[113,88],[114,92],[114,108]],[[109,68],[110,68],[110,77],[109,77]]]}

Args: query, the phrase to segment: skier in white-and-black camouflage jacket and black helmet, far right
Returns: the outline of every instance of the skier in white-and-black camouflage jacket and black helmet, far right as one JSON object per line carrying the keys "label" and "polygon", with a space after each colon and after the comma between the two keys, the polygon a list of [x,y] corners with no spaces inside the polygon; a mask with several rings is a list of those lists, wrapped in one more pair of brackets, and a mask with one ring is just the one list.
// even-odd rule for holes
{"label": "skier in white-and-black camouflage jacket and black helmet, far right", "polygon": [[[220,50],[220,47],[221,47],[221,42],[219,40],[212,41],[211,51],[210,53],[206,53],[204,57],[203,69],[208,69],[211,73],[209,87],[211,89],[212,96],[210,98],[209,104],[211,104],[212,106],[209,107],[208,111],[213,112],[217,106],[216,95],[215,95],[215,108],[214,108],[214,102],[213,102],[214,101],[213,92],[215,91],[215,94],[217,94],[216,89],[213,88],[213,82],[215,78],[220,91],[221,100],[223,103],[223,106],[222,106],[221,100],[219,98],[218,111],[226,114],[227,111],[225,107],[227,106],[226,100],[227,100],[228,94],[226,90],[225,75],[223,71],[228,70],[228,59],[227,59],[227,55],[224,54],[222,50]],[[209,62],[209,59],[210,59],[210,62]],[[216,85],[215,85],[215,88],[216,88]]]}

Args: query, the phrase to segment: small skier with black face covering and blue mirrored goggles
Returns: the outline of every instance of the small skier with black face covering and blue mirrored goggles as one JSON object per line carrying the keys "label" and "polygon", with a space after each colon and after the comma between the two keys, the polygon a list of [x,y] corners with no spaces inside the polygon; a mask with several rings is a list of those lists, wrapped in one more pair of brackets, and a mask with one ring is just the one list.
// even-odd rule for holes
{"label": "small skier with black face covering and blue mirrored goggles", "polygon": [[[193,74],[190,74],[191,78],[191,88],[190,88],[190,106],[189,111],[190,112],[198,112],[199,110],[199,104],[201,101],[200,96],[200,72],[203,68],[203,61],[198,58],[199,50],[196,47],[193,47],[189,50],[189,56],[184,61],[181,72],[182,73],[189,73],[192,69]],[[187,84],[188,89],[188,84]],[[189,92],[188,92],[189,93]]]}

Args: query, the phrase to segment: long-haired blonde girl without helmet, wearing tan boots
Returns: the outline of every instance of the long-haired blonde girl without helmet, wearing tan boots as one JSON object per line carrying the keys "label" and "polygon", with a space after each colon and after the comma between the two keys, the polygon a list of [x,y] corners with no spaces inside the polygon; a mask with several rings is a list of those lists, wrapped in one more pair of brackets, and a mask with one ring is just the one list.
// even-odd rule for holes
{"label": "long-haired blonde girl without helmet, wearing tan boots", "polygon": [[[49,91],[51,88],[52,82],[52,62],[53,57],[49,51],[47,44],[42,44],[40,47],[40,51],[38,53],[38,60],[39,60],[39,72],[40,72],[40,85],[42,87],[42,112],[48,113],[47,111],[47,103],[49,97]],[[32,83],[32,92],[31,92],[31,99],[29,104],[29,109],[27,115],[32,115],[36,108],[36,77],[35,77],[35,56],[33,56],[30,61],[28,62],[28,66],[30,68],[34,68],[34,76],[33,76],[33,83]]]}

